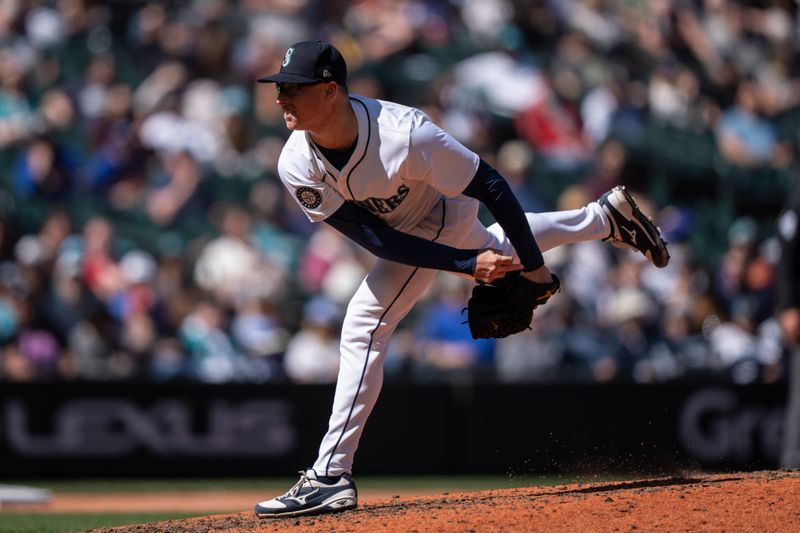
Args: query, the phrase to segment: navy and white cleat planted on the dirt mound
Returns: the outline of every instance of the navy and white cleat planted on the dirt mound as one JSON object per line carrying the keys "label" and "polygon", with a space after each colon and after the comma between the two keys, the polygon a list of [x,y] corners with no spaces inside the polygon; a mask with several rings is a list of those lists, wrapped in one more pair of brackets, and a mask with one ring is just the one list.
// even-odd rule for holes
{"label": "navy and white cleat planted on the dirt mound", "polygon": [[343,474],[336,481],[327,483],[317,478],[312,470],[301,470],[300,481],[283,496],[263,501],[256,505],[259,518],[300,516],[321,513],[338,513],[355,509],[358,491],[350,474]]}

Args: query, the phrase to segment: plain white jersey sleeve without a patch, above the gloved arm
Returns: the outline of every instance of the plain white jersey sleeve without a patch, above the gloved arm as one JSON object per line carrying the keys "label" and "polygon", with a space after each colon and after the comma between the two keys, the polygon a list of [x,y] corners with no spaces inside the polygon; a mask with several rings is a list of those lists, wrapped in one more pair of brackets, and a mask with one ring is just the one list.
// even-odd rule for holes
{"label": "plain white jersey sleeve without a patch, above the gloved arm", "polygon": [[448,198],[461,194],[475,176],[478,155],[422,112],[414,117],[410,135],[408,179],[425,182]]}

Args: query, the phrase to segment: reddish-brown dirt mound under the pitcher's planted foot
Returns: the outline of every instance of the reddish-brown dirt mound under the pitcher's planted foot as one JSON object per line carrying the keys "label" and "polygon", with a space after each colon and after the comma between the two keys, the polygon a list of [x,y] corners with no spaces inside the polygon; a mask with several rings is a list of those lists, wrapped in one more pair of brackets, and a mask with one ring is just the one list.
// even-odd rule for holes
{"label": "reddish-brown dirt mound under the pitcher's planted foot", "polygon": [[215,515],[104,532],[800,531],[800,472],[688,475],[362,501],[336,515]]}

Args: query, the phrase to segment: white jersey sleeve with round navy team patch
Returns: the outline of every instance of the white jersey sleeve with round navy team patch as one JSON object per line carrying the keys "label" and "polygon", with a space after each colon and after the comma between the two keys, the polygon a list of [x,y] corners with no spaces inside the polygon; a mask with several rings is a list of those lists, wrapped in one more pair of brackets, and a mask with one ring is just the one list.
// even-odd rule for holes
{"label": "white jersey sleeve with round navy team patch", "polygon": [[302,154],[284,150],[278,160],[278,174],[311,222],[325,220],[344,203],[339,192],[325,183],[324,170],[315,168]]}

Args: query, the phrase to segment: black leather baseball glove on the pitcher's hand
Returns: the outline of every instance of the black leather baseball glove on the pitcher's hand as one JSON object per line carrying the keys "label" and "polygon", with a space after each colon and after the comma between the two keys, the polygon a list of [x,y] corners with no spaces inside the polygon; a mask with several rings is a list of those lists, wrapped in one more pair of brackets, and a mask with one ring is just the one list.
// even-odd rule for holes
{"label": "black leather baseball glove on the pitcher's hand", "polygon": [[533,310],[561,288],[561,280],[552,276],[550,283],[534,283],[514,272],[490,284],[476,285],[467,302],[472,338],[502,338],[530,329]]}

